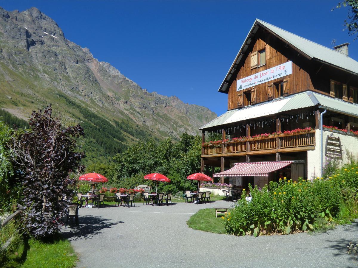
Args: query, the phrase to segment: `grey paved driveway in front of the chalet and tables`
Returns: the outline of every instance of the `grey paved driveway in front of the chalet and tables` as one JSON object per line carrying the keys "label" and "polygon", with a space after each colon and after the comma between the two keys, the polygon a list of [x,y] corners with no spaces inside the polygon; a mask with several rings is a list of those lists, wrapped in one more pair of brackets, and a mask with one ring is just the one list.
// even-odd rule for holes
{"label": "grey paved driveway in front of the chalet and tables", "polygon": [[78,228],[63,231],[79,254],[78,267],[357,267],[346,253],[358,242],[358,222],[318,235],[254,238],[187,227],[202,208],[229,203],[79,209]]}

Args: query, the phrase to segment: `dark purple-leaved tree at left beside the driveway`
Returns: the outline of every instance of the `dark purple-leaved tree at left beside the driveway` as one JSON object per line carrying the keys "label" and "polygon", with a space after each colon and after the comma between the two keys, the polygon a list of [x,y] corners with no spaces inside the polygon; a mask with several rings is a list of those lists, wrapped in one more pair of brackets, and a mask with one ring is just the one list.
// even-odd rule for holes
{"label": "dark purple-leaved tree at left beside the driveway", "polygon": [[[71,202],[68,186],[74,179],[69,173],[80,169],[83,157],[76,150],[75,138],[84,133],[79,125],[64,127],[53,118],[51,105],[44,111],[33,111],[29,126],[29,130],[14,136],[11,152],[16,168],[23,173],[26,231],[45,238],[60,230]],[[58,201],[58,197],[68,198]]]}

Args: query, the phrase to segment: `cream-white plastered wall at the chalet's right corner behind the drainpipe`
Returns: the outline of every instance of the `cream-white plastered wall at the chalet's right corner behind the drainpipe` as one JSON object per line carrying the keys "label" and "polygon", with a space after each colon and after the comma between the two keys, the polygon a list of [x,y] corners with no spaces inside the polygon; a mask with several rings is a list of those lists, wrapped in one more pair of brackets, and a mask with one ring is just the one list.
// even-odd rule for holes
{"label": "cream-white plastered wall at the chalet's right corner behind the drainpipe", "polygon": [[[348,134],[342,134],[338,131],[332,132],[323,130],[323,165],[325,164],[325,148],[327,135],[332,134],[339,137],[342,144],[342,163],[348,163],[347,150],[353,153],[355,159],[358,159],[358,137]],[[321,175],[321,131],[316,130],[316,147],[314,150],[307,151],[307,173],[308,178],[312,179]]]}

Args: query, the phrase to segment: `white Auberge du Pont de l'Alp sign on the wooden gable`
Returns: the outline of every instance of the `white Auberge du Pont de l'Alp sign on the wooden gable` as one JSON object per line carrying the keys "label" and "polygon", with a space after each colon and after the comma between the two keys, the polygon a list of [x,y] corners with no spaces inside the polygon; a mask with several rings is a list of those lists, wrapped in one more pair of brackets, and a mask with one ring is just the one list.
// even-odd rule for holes
{"label": "white Auberge du Pont de l'Alp sign on the wooden gable", "polygon": [[277,65],[260,73],[247,76],[236,81],[236,91],[251,88],[268,81],[292,74],[292,61]]}

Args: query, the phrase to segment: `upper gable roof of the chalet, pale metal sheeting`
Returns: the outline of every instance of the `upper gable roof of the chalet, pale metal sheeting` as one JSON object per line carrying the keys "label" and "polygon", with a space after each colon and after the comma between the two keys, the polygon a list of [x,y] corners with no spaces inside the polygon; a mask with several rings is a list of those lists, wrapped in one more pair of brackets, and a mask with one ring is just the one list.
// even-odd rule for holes
{"label": "upper gable roof of the chalet, pale metal sheeting", "polygon": [[265,21],[256,19],[244,43],[242,44],[239,53],[237,54],[234,62],[232,63],[225,79],[223,80],[218,90],[219,92],[228,93],[232,75],[238,68],[240,68],[240,61],[243,58],[247,57],[246,51],[250,46],[251,42],[254,40],[255,34],[260,27],[277,36],[277,38],[281,39],[287,45],[296,49],[297,51],[299,51],[299,53],[309,59],[315,59],[322,63],[326,63],[337,68],[344,69],[355,75],[358,74],[358,62],[352,58],[349,58],[347,55],[344,55],[343,53],[338,52],[334,49],[330,49],[323,45],[314,43],[301,36],[292,34],[272,24],[266,23]]}

